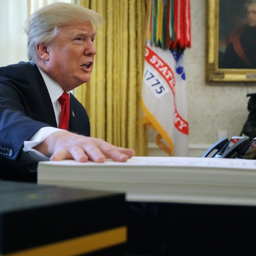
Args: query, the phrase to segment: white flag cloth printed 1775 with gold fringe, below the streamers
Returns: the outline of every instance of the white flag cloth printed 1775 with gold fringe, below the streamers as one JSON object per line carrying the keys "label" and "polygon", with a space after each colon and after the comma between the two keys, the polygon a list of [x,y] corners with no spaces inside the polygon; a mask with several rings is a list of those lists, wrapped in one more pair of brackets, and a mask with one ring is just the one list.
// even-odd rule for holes
{"label": "white flag cloth printed 1775 with gold fringe, below the streamers", "polygon": [[170,156],[188,156],[182,50],[146,45],[142,98],[144,123],[157,131],[156,144]]}

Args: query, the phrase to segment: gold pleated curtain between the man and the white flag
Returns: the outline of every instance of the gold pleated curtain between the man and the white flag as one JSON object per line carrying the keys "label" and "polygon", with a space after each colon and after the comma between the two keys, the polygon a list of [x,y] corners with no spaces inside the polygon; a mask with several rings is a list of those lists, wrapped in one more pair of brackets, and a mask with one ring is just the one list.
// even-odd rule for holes
{"label": "gold pleated curtain between the man and the white flag", "polygon": [[97,28],[91,81],[75,89],[88,111],[91,136],[146,156],[141,108],[146,0],[79,0],[78,4],[105,20]]}

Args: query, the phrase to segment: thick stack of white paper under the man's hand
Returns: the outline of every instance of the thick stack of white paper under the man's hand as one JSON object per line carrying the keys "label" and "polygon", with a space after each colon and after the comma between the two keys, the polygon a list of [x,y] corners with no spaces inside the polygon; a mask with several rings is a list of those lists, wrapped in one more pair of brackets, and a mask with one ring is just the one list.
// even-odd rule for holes
{"label": "thick stack of white paper under the man's hand", "polygon": [[128,201],[256,205],[256,160],[133,157],[38,164],[38,183],[125,192]]}

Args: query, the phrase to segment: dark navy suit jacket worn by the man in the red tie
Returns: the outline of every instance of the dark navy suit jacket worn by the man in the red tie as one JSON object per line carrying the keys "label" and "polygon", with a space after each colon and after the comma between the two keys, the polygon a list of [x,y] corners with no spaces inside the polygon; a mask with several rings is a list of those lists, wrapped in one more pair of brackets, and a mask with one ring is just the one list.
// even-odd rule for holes
{"label": "dark navy suit jacket worn by the man in the red tie", "polygon": [[[69,131],[90,136],[82,104],[70,94]],[[24,141],[41,127],[57,127],[44,79],[35,64],[19,62],[0,68],[0,179],[36,181],[20,162]]]}

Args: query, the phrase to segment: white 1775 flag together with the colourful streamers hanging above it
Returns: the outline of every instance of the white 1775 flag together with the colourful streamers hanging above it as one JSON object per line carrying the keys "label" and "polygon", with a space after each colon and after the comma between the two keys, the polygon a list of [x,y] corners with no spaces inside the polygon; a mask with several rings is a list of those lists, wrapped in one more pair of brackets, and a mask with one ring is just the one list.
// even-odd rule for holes
{"label": "white 1775 flag together with the colourful streamers hanging above it", "polygon": [[148,0],[143,122],[169,156],[188,156],[184,50],[191,47],[189,0]]}

